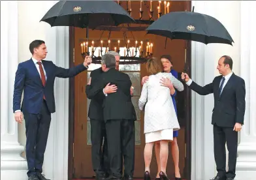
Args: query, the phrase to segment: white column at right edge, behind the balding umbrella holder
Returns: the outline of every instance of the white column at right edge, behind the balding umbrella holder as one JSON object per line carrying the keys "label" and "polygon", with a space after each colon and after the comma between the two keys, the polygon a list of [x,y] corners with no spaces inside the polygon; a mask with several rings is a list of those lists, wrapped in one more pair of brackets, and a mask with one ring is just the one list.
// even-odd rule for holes
{"label": "white column at right edge, behind the balding umbrella holder", "polygon": [[246,114],[240,133],[238,158],[236,163],[237,179],[253,180],[256,177],[256,35],[255,1],[241,3],[241,76],[246,82]]}

